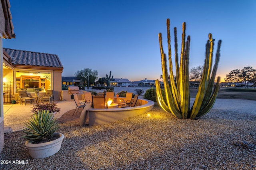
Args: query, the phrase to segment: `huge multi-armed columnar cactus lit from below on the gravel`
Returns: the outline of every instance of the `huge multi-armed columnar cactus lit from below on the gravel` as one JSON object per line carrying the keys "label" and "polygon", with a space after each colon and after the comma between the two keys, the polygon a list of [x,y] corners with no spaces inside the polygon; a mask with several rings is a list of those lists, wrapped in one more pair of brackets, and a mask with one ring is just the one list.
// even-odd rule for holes
{"label": "huge multi-armed columnar cactus lit from below on the gravel", "polygon": [[180,119],[195,119],[196,117],[205,115],[210,111],[215,103],[220,88],[220,77],[217,79],[217,83],[214,86],[214,79],[218,67],[220,58],[220,44],[221,40],[218,41],[218,49],[216,52],[215,64],[212,70],[212,53],[214,40],[212,40],[212,34],[209,34],[209,40],[206,43],[206,56],[204,61],[204,72],[202,80],[200,82],[198,93],[194,104],[190,108],[190,93],[189,93],[189,48],[190,48],[190,36],[186,39],[186,23],[182,25],[182,45],[180,54],[180,65],[178,63],[178,43],[177,43],[177,30],[174,28],[174,47],[175,47],[175,63],[176,63],[176,84],[174,81],[174,74],[172,71],[172,57],[171,57],[171,43],[170,43],[170,20],[167,19],[167,40],[168,40],[168,59],[169,59],[169,74],[170,83],[168,82],[168,69],[166,54],[162,47],[162,34],[159,33],[159,43],[162,59],[162,77],[164,81],[164,90],[166,93],[167,103],[164,102],[163,96],[160,90],[159,80],[156,80],[156,94],[158,103],[160,106],[175,117]]}

